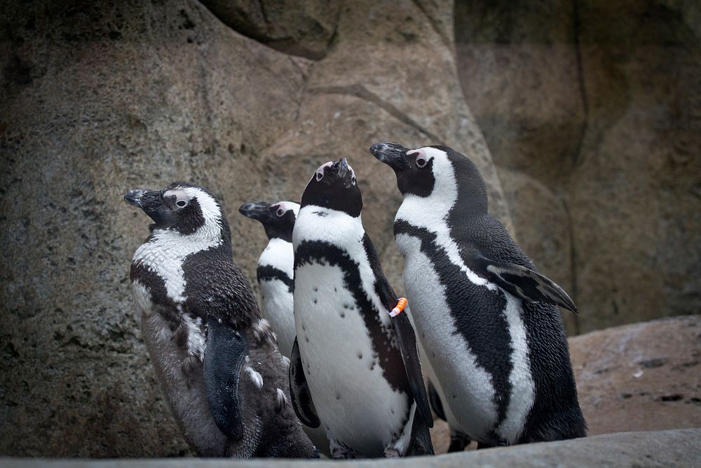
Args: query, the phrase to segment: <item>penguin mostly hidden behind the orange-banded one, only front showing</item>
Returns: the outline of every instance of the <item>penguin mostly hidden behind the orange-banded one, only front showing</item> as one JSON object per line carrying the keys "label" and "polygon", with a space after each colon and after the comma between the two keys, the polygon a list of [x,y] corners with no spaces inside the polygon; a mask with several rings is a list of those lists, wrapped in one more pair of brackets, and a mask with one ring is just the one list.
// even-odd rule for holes
{"label": "penguin mostly hidden behind the orange-banded one, only front showing", "polygon": [[292,229],[299,204],[292,201],[244,203],[239,213],[261,222],[268,236],[268,245],[258,258],[258,284],[261,288],[261,313],[275,335],[278,349],[290,357],[294,342],[294,251]]}

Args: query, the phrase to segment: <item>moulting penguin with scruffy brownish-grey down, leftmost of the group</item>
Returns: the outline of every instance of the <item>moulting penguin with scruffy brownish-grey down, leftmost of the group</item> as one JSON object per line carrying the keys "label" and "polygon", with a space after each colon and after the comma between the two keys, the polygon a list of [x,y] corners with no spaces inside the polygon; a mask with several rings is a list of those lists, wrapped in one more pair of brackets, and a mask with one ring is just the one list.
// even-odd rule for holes
{"label": "moulting penguin with scruffy brownish-grey down, leftmost of the group", "polygon": [[134,254],[137,321],[186,441],[205,457],[316,457],[287,404],[289,363],[233,263],[205,189],[176,182],[124,196],[154,220]]}

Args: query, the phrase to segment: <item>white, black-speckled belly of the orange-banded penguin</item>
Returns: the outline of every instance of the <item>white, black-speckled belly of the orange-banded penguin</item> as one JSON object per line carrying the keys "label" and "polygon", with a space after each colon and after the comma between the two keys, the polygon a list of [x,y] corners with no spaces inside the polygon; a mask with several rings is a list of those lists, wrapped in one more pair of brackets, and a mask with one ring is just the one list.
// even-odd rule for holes
{"label": "white, black-speckled belly of the orange-banded penguin", "polygon": [[381,456],[407,422],[409,397],[383,377],[343,270],[298,267],[294,314],[304,373],[329,439]]}

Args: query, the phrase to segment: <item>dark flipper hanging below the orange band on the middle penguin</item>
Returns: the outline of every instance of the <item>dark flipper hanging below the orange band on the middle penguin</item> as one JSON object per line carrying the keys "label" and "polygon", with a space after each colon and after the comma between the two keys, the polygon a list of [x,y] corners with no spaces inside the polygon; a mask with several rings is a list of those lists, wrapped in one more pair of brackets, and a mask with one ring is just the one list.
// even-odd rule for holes
{"label": "dark flipper hanging below the orange band on the middle penguin", "polygon": [[411,321],[409,321],[409,316],[406,313],[399,314],[390,319],[390,321],[397,334],[397,341],[402,352],[402,361],[404,361],[404,370],[407,373],[411,394],[414,395],[414,401],[416,401],[416,410],[426,420],[428,427],[433,427],[433,415],[431,415],[431,408],[428,403],[426,385],[423,383],[423,372],[421,371],[421,361],[418,358],[418,345],[414,327],[411,326]]}

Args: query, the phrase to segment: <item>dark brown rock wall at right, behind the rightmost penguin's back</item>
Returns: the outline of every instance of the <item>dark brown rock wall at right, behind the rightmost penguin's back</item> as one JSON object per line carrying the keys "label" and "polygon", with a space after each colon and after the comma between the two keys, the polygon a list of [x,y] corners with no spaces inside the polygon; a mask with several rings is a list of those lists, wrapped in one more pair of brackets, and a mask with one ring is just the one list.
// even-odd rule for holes
{"label": "dark brown rock wall at right, behind the rightmost penguin's back", "polygon": [[[456,4],[465,99],[495,163],[553,195],[505,187],[529,214],[519,241],[538,265],[571,258],[581,332],[701,311],[700,18],[691,1]],[[527,227],[553,204],[569,246]]]}

